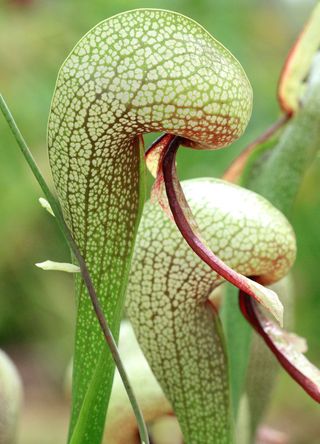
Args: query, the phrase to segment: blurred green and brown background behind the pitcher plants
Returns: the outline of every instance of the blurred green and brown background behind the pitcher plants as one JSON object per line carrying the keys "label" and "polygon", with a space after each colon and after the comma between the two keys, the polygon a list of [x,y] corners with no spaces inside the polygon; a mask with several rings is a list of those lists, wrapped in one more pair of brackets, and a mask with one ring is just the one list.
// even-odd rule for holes
{"label": "blurred green and brown background behind the pitcher plants", "polygon": [[[284,58],[308,17],[307,0],[0,0],[0,90],[51,181],[46,125],[59,66],[97,22],[138,7],[172,9],[207,28],[240,60],[254,90],[245,136],[219,152],[184,150],[181,178],[220,176],[246,143],[279,115],[276,86]],[[147,137],[147,143],[151,140]],[[296,332],[320,364],[320,160],[309,171],[292,217],[298,239]],[[41,191],[0,116],[0,346],[26,385],[20,441],[64,442],[68,408],[63,375],[72,353],[72,278],[34,263],[68,261],[54,221],[40,208]],[[283,373],[266,422],[292,444],[320,442],[317,406]],[[50,433],[48,434],[48,426]],[[48,436],[49,435],[49,436]]]}

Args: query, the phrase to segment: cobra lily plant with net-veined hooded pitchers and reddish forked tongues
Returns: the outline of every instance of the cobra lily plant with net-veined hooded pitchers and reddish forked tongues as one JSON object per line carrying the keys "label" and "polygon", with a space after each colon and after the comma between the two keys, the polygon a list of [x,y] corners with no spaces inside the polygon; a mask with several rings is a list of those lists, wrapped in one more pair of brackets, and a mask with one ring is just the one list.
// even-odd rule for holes
{"label": "cobra lily plant with net-veined hooded pitchers and reddish forked tongues", "polygon": [[[111,17],[67,57],[48,124],[58,201],[1,102],[72,250],[73,265],[45,266],[81,272],[69,443],[101,442],[112,357],[122,368],[106,319],[117,340],[126,293],[138,339],[185,443],[234,439],[233,382],[218,311],[209,303],[224,280],[240,291],[241,312],[280,364],[319,402],[320,373],[281,329],[282,303],[265,286],[293,263],[295,238],[280,211],[288,215],[320,140],[319,15],[318,6],[284,69],[279,97],[285,117],[225,175],[258,194],[211,178],[179,183],[178,148],[230,145],[245,130],[252,107],[240,63],[180,14],[140,9]],[[130,271],[145,199],[148,132],[164,132],[146,154],[162,210],[146,205]],[[230,362],[232,379],[232,353]],[[149,441],[143,427],[140,436]]]}

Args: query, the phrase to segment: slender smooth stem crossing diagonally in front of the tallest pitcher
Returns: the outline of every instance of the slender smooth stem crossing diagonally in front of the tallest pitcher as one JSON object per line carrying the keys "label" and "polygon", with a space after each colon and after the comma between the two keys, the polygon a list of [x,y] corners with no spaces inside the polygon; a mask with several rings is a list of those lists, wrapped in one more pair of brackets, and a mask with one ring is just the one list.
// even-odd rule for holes
{"label": "slender smooth stem crossing diagonally in front of the tallest pitcher", "polygon": [[149,444],[148,431],[147,431],[145,421],[143,419],[142,412],[140,410],[138,401],[134,395],[133,389],[130,385],[127,373],[126,373],[124,366],[122,364],[122,361],[121,361],[121,358],[119,355],[119,351],[117,348],[117,344],[114,340],[114,337],[112,335],[112,332],[110,330],[108,322],[107,322],[107,320],[103,314],[102,308],[100,306],[99,299],[97,297],[93,282],[90,277],[89,270],[87,268],[87,264],[86,264],[84,258],[82,257],[82,255],[79,251],[79,248],[78,248],[76,242],[74,241],[68,226],[66,225],[60,204],[58,203],[58,201],[56,200],[56,198],[54,197],[54,195],[50,191],[44,177],[42,176],[42,174],[36,164],[34,157],[31,154],[31,151],[28,148],[26,141],[24,140],[24,138],[23,138],[9,108],[8,108],[8,105],[6,104],[4,98],[1,94],[0,94],[0,109],[1,109],[6,121],[8,123],[10,129],[11,129],[11,132],[12,132],[14,138],[16,139],[16,142],[18,143],[18,145],[20,147],[22,154],[24,155],[25,160],[27,161],[29,167],[31,168],[31,171],[33,172],[40,187],[42,188],[42,191],[44,192],[49,204],[51,205],[52,211],[56,217],[58,225],[59,225],[67,243],[69,244],[71,251],[73,252],[75,258],[78,261],[78,264],[79,264],[79,267],[81,270],[81,274],[82,274],[82,278],[83,278],[84,283],[88,289],[88,293],[89,293],[89,296],[90,296],[90,299],[92,302],[92,306],[94,308],[95,314],[96,314],[97,319],[99,321],[99,324],[100,324],[101,330],[103,332],[103,335],[105,337],[106,343],[107,343],[109,350],[112,354],[113,360],[114,360],[116,367],[118,369],[118,372],[121,376],[121,379],[122,379],[123,385],[126,389],[132,409],[134,411],[142,444]]}

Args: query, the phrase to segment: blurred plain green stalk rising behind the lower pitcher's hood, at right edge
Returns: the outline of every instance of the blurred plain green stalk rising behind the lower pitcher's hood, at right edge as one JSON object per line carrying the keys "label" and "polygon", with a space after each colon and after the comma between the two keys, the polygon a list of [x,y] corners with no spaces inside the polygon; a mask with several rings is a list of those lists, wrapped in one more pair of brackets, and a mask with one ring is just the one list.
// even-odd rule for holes
{"label": "blurred plain green stalk rising behind the lower pitcher's hood, at right edge", "polygon": [[320,57],[308,81],[302,106],[289,121],[259,174],[245,184],[290,215],[304,175],[320,148]]}

